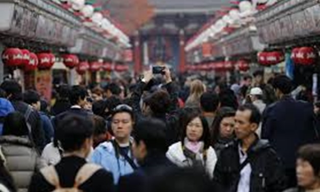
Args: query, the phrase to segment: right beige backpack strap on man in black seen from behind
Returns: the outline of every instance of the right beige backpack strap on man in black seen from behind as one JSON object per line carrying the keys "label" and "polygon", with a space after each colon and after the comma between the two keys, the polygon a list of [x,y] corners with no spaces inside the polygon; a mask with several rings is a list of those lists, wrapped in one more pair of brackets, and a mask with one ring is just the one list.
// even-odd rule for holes
{"label": "right beige backpack strap on man in black seen from behind", "polygon": [[86,182],[93,174],[95,174],[100,169],[102,169],[102,167],[95,164],[87,163],[82,166],[82,168],[79,169],[78,173],[75,176],[73,188],[78,188],[78,186]]}

